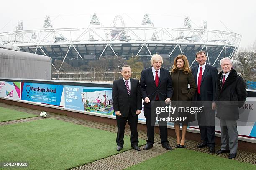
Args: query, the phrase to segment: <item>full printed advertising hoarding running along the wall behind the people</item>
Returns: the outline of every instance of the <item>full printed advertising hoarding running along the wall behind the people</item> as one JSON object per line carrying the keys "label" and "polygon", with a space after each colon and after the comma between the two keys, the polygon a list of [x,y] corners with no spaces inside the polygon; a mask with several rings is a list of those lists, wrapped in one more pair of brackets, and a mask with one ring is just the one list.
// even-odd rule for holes
{"label": "full printed advertising hoarding running along the wall behind the people", "polygon": [[[0,81],[0,97],[54,105],[84,113],[93,112],[99,116],[103,114],[115,117],[111,88]],[[255,105],[255,97],[247,97],[245,104],[240,108],[237,120],[239,136],[256,138]],[[142,113],[138,116],[140,121],[146,121],[143,111],[142,109]],[[197,114],[195,113],[195,120],[189,122],[191,129],[199,130]],[[156,120],[156,122],[158,121]],[[168,121],[167,125],[173,126],[174,124],[172,121]],[[220,132],[217,117],[215,117],[215,130]]]}

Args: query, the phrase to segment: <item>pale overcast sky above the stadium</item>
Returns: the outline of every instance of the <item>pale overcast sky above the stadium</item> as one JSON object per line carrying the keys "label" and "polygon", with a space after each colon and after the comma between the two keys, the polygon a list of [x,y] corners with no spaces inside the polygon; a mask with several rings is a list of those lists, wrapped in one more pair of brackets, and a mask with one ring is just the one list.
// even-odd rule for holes
{"label": "pale overcast sky above the stadium", "polygon": [[[193,28],[207,21],[208,29],[242,35],[240,47],[256,40],[256,1],[253,0],[4,0],[0,9],[0,32],[40,29],[50,15],[54,28],[87,27],[96,13],[103,26],[112,26],[121,15],[125,26],[141,26],[145,13],[155,27],[183,27],[189,16]],[[117,21],[117,26],[121,26]]]}

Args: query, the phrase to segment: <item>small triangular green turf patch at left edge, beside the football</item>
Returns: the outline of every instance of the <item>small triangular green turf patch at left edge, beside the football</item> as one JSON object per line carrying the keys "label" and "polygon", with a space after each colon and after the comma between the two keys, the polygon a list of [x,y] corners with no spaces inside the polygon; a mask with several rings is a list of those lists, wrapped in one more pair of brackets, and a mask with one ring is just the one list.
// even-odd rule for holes
{"label": "small triangular green turf patch at left edge, beside the football", "polygon": [[0,122],[24,119],[24,118],[29,118],[29,117],[37,117],[37,115],[0,107]]}

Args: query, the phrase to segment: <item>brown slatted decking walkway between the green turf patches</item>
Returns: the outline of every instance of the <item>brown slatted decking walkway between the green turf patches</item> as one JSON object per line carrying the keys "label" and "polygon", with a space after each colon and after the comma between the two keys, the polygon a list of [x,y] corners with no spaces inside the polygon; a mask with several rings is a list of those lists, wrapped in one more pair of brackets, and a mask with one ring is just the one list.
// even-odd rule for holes
{"label": "brown slatted decking walkway between the green turf patches", "polygon": [[[0,126],[41,119],[41,117],[39,116],[41,111],[39,111],[39,110],[33,110],[33,109],[19,107],[19,106],[15,106],[15,105],[8,105],[5,103],[0,103],[0,107],[5,107],[5,108],[13,109],[13,110],[18,110],[18,111],[38,115],[38,117],[0,122]],[[83,120],[83,119],[79,119],[79,118],[68,117],[65,115],[59,115],[56,113],[47,112],[47,117],[57,119],[57,120],[62,120],[65,122],[71,122],[71,123],[78,124],[78,125],[87,126],[90,128],[107,130],[107,131],[110,131],[113,133],[116,133],[116,131],[117,131],[116,125],[110,125],[110,124],[100,123],[100,122],[95,122],[95,121],[90,121],[90,120]],[[130,135],[129,128],[125,129],[125,135]],[[141,139],[145,139],[145,140],[147,139],[147,133],[145,131],[139,130],[138,136]],[[123,153],[112,155],[110,157],[107,157],[107,158],[104,158],[101,160],[97,160],[92,163],[87,163],[85,165],[82,165],[82,166],[79,166],[76,168],[72,168],[72,170],[96,170],[96,169],[97,170],[120,170],[120,169],[125,169],[129,166],[141,163],[141,162],[148,160],[150,158],[153,158],[157,155],[161,155],[163,153],[168,152],[168,150],[161,147],[159,134],[155,134],[154,140],[155,140],[154,147],[151,148],[150,150],[145,151],[145,150],[143,150],[143,146],[142,146],[141,151],[128,150]],[[177,149],[174,147],[176,145],[176,138],[168,137],[168,140],[169,140],[169,144],[172,146],[172,148]],[[196,146],[197,144],[198,144],[198,142],[195,142],[192,140],[186,140],[186,148],[187,149],[210,154],[207,147],[206,148],[197,148],[197,146]],[[220,149],[220,146],[216,146],[215,149],[216,150]],[[217,156],[224,157],[224,158],[228,157],[228,153],[211,154],[211,155],[217,155]],[[116,160],[116,159],[118,159],[118,164],[113,162],[113,160]],[[253,165],[256,165],[256,153],[238,150],[238,155],[236,156],[236,158],[234,160],[238,160],[241,162],[246,162],[246,163],[251,163]]]}

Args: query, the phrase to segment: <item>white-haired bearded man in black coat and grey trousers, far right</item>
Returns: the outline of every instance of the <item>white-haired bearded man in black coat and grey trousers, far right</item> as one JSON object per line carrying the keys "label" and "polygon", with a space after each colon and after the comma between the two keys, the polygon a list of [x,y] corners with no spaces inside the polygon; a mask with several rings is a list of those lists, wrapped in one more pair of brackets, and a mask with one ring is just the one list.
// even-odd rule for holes
{"label": "white-haired bearded man in black coat and grey trousers, far right", "polygon": [[216,88],[217,115],[220,119],[221,148],[216,153],[229,152],[229,159],[235,158],[238,148],[237,122],[239,108],[246,97],[246,84],[232,68],[230,58],[220,60],[222,71],[218,75]]}

